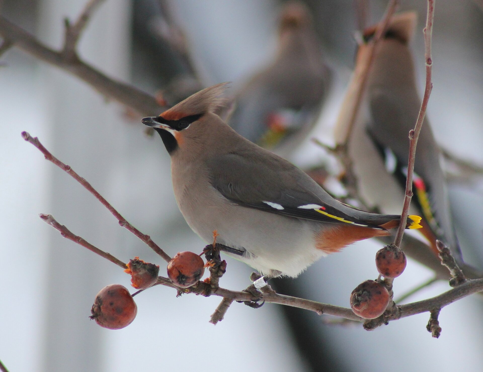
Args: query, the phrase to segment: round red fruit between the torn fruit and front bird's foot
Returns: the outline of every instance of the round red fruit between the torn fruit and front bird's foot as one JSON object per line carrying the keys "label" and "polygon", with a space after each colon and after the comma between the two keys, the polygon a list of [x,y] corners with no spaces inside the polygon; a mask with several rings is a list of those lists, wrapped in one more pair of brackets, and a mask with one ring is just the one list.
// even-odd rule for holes
{"label": "round red fruit between the torn fruit and front bird's foot", "polygon": [[204,272],[203,259],[193,252],[179,252],[168,263],[168,277],[181,288],[196,284]]}

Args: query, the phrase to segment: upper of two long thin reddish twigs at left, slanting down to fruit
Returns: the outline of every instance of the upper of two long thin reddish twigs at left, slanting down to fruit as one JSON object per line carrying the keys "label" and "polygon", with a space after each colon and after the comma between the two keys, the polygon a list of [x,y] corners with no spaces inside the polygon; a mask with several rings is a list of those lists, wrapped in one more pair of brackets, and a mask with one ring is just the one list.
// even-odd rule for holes
{"label": "upper of two long thin reddish twigs at left, slanting down to fruit", "polygon": [[153,251],[155,251],[159,256],[161,256],[166,262],[169,262],[171,260],[170,256],[168,256],[159,246],[153,242],[151,237],[149,235],[144,235],[141,231],[133,227],[127,220],[124,218],[119,212],[117,212],[114,207],[109,204],[107,200],[105,200],[102,195],[99,194],[99,192],[96,191],[94,187],[92,187],[84,178],[79,176],[74,170],[69,166],[61,162],[57,157],[54,157],[44,146],[42,143],[40,143],[39,139],[37,137],[31,137],[30,134],[27,132],[22,132],[22,137],[24,138],[25,141],[28,141],[29,143],[33,144],[35,147],[37,147],[45,156],[45,158],[55,165],[59,167],[61,170],[64,172],[67,172],[73,179],[75,179],[77,182],[79,182],[82,186],[87,189],[94,197],[101,202],[102,205],[104,205],[109,212],[111,212],[114,217],[117,218],[119,221],[119,225],[122,227],[125,227],[128,229],[130,232],[132,232],[134,235],[136,235],[139,239],[141,239],[144,243],[146,243]]}

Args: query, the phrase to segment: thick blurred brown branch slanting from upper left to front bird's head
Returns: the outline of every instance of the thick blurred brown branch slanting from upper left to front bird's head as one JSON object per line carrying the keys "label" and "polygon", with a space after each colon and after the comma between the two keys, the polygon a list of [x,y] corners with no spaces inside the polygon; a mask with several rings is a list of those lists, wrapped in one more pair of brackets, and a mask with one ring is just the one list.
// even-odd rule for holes
{"label": "thick blurred brown branch slanting from upper left to front bird's head", "polygon": [[142,115],[152,115],[166,109],[156,99],[140,89],[114,80],[80,59],[66,60],[57,52],[39,42],[24,29],[0,16],[0,35],[28,54],[70,72],[96,89],[108,99],[115,100]]}

